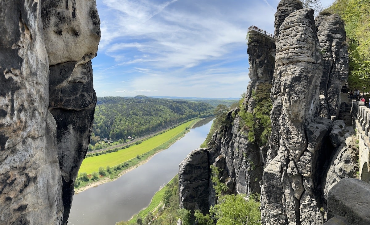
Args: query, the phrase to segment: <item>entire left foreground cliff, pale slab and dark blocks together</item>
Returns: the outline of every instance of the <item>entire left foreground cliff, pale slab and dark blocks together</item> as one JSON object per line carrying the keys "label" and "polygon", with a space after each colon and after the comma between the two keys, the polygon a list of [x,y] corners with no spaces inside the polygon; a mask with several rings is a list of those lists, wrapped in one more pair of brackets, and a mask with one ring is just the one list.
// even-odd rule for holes
{"label": "entire left foreground cliff, pale slab and dark blocks together", "polygon": [[65,224],[96,103],[95,1],[0,9],[0,223]]}

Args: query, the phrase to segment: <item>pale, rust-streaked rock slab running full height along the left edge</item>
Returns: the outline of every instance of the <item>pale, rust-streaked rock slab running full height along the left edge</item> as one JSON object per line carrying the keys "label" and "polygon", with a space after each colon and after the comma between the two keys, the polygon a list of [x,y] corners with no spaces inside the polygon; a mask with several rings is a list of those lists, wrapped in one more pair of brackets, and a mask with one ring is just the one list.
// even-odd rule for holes
{"label": "pale, rust-streaked rock slab running full height along the left edge", "polygon": [[62,224],[39,1],[0,1],[0,224]]}

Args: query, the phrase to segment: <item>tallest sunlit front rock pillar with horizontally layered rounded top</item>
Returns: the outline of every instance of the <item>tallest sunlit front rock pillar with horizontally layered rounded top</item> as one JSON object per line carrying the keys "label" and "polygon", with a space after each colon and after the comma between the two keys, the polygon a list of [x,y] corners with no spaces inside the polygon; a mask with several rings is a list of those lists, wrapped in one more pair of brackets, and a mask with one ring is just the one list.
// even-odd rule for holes
{"label": "tallest sunlit front rock pillar with horizontally layered rounded top", "polygon": [[[327,134],[330,124],[310,125],[318,114],[322,76],[313,10],[289,14],[275,38],[274,76],[280,83],[282,103],[280,147],[263,173],[262,223],[322,224],[313,180],[316,151],[322,147],[316,140]],[[278,193],[277,197],[271,193]]]}

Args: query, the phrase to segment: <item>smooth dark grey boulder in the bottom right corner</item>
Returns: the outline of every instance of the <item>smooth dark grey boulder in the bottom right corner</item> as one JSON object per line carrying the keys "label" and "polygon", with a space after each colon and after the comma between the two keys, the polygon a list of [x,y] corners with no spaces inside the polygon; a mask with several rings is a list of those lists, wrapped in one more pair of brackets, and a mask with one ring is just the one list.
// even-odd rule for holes
{"label": "smooth dark grey boulder in the bottom right corner", "polygon": [[327,197],[328,219],[343,216],[349,224],[370,224],[370,184],[359,179],[343,178]]}

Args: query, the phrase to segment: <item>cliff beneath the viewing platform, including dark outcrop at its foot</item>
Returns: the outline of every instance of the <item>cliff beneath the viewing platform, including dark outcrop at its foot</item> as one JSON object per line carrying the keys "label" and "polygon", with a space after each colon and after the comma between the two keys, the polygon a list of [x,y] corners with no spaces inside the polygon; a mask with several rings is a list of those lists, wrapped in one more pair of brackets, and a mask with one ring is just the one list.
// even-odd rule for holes
{"label": "cliff beneath the viewing platform, including dark outcrop at its foot", "polygon": [[[259,85],[271,84],[275,66],[275,43],[261,34],[249,34],[248,54],[250,83],[242,107],[247,112],[253,112],[256,102],[252,92],[257,90]],[[222,125],[213,134],[212,148],[207,151],[195,150],[181,162],[179,169],[181,207],[190,210],[201,209],[206,213],[209,206],[215,204],[216,196],[209,170],[211,165],[222,170],[219,175],[220,181],[228,186],[228,193],[260,192],[259,182],[262,178],[267,148],[266,145],[260,147],[258,141],[248,141],[248,130],[240,127],[242,119],[238,115],[239,110],[234,108],[230,111],[226,119],[228,124]],[[256,131],[256,134],[258,136],[260,132]]]}

